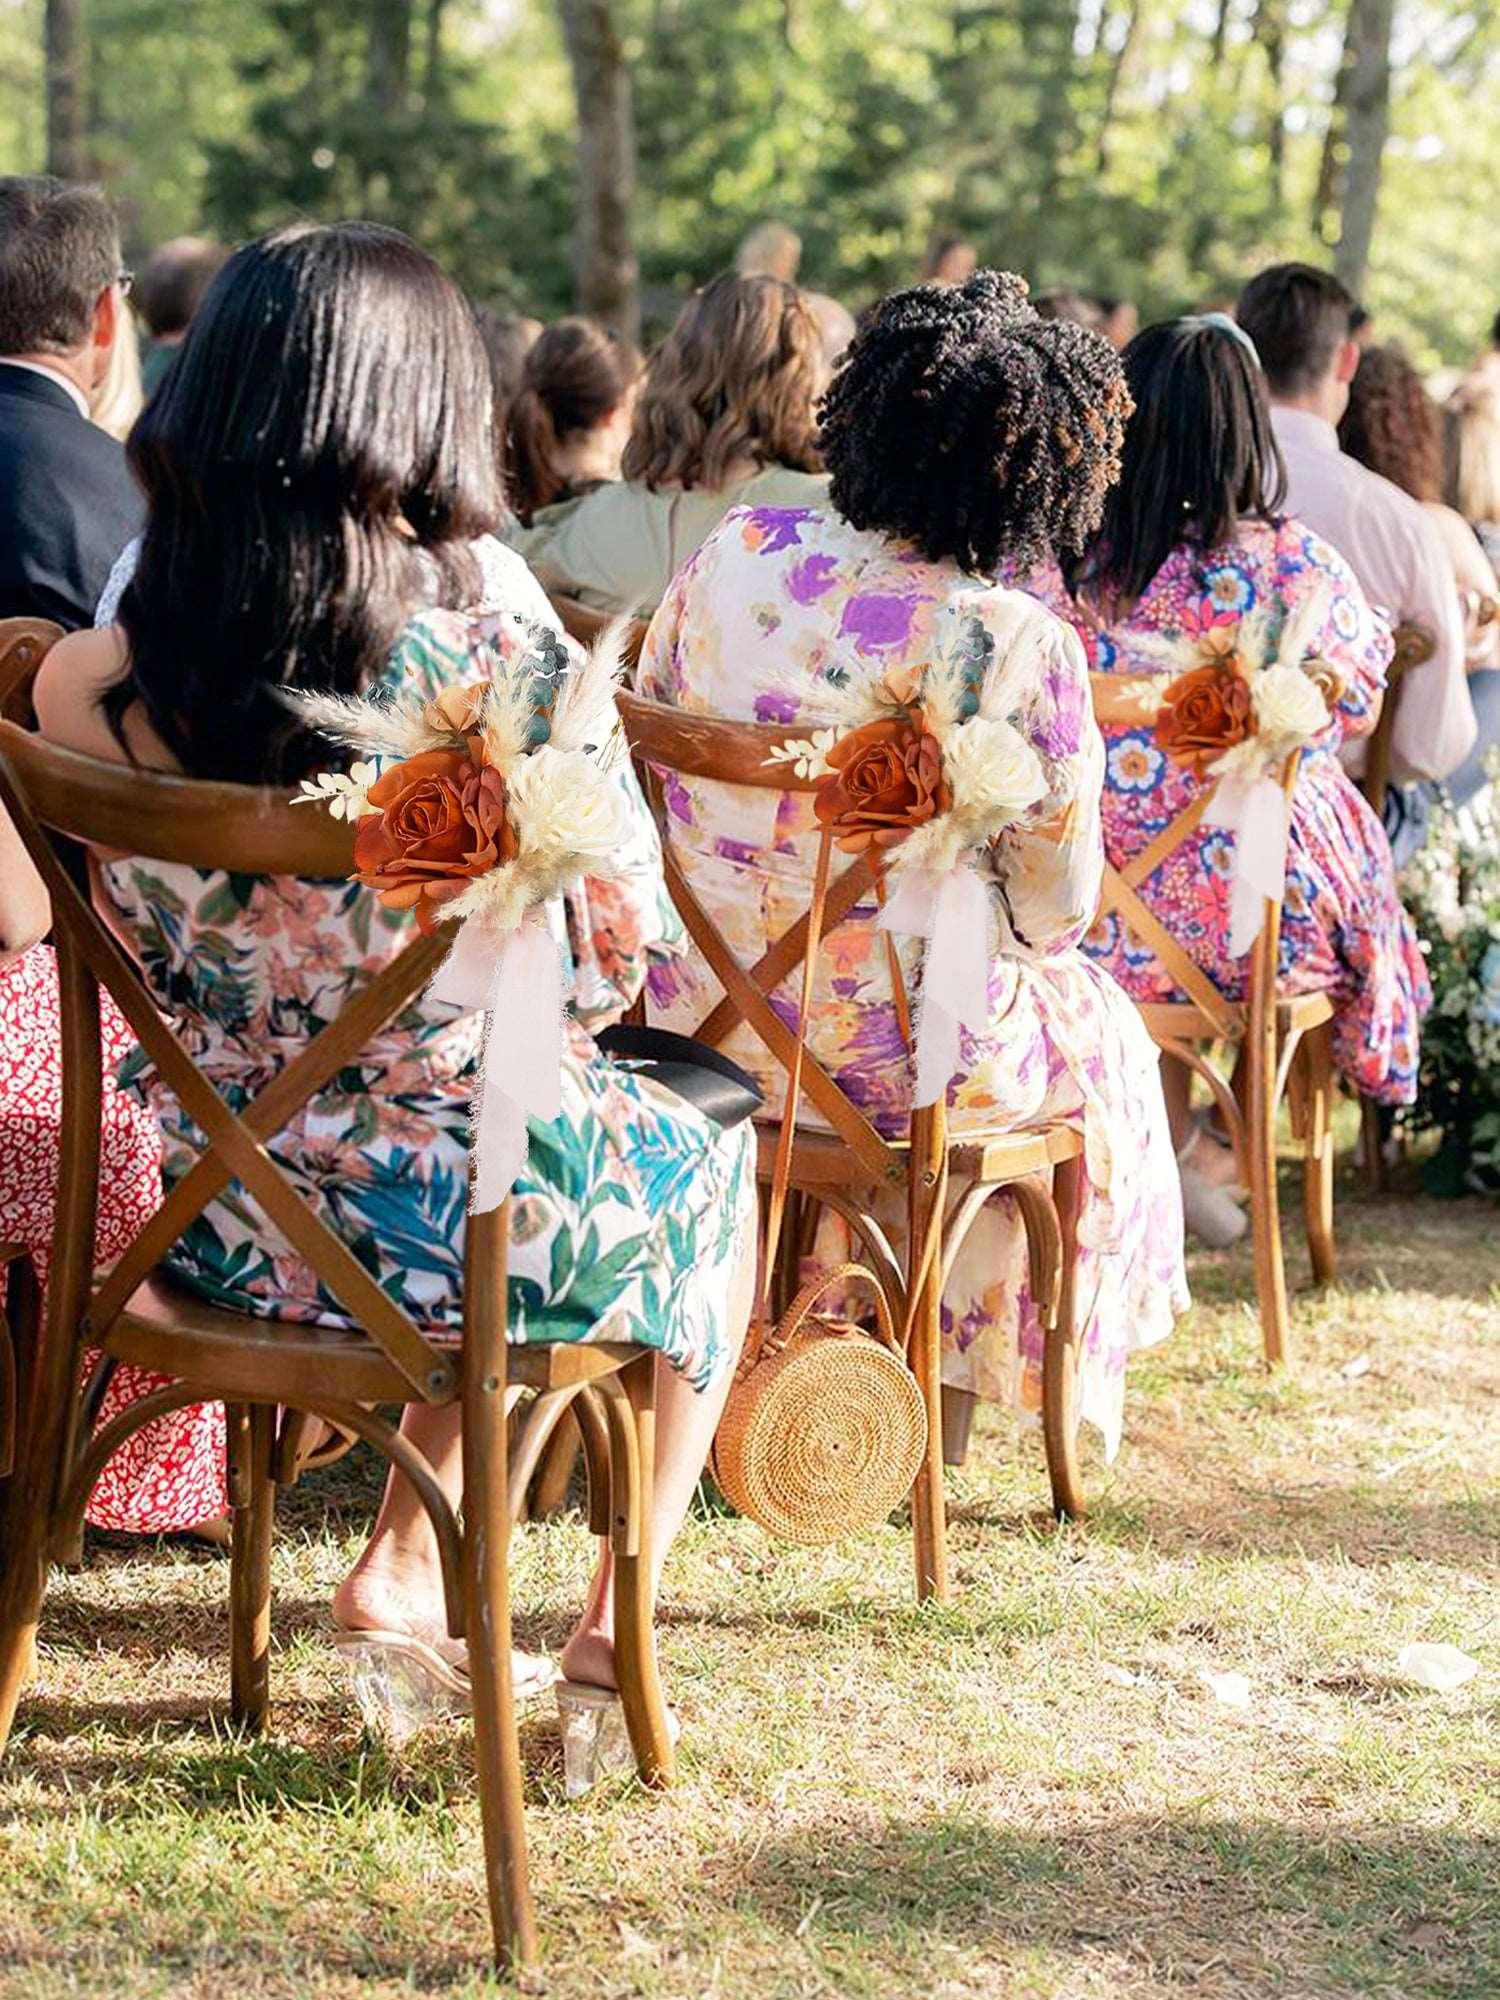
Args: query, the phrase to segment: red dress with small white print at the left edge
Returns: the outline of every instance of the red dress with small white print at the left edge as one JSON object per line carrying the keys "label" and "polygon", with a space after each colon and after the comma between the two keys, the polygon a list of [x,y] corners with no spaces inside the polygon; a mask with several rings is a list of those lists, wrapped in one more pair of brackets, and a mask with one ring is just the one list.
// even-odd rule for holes
{"label": "red dress with small white print at the left edge", "polygon": [[[94,1254],[110,1264],[162,1198],[160,1136],[152,1114],[114,1086],[134,1040],[114,1002],[100,1006],[104,1130]],[[0,1242],[24,1244],[46,1282],[62,1130],[58,970],[38,944],[0,966]],[[104,1394],[100,1424],[164,1388],[168,1376],[124,1362]],[[88,1502],[96,1528],[162,1534],[226,1512],[224,1406],[192,1404],[144,1424],[110,1458]]]}

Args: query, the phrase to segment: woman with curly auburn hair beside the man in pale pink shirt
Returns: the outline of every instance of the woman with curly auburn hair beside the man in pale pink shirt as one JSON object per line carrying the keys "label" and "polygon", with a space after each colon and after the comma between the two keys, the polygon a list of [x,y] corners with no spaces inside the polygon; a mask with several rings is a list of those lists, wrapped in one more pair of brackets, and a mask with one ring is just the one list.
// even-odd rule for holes
{"label": "woman with curly auburn hair beside the man in pale pink shirt", "polygon": [[1440,498],[1442,410],[1400,348],[1366,348],[1360,354],[1338,442],[1350,458],[1422,502],[1452,560],[1464,604],[1468,692],[1480,724],[1468,758],[1444,780],[1462,806],[1486,782],[1486,758],[1500,736],[1500,582],[1478,534]]}

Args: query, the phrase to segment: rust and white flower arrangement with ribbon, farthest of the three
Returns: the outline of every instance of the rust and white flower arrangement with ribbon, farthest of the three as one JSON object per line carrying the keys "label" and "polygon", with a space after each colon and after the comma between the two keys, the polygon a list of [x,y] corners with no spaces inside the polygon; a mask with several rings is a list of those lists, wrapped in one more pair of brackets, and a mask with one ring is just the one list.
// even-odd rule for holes
{"label": "rust and white flower arrangement with ribbon, farthest of the three", "polygon": [[1204,808],[1208,826],[1234,834],[1230,952],[1244,956],[1260,936],[1266,900],[1286,888],[1292,806],[1278,772],[1332,722],[1342,680],[1318,652],[1326,590],[1310,592],[1280,620],[1258,604],[1236,624],[1196,638],[1156,634],[1140,652],[1190,664],[1162,692],[1156,742],[1174,762],[1216,778]]}

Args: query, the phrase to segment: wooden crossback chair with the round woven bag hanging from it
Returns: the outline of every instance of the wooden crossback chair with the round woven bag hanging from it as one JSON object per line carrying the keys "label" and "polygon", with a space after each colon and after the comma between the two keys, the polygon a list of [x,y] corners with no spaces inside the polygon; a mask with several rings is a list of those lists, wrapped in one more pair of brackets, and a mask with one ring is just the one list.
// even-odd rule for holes
{"label": "wooden crossback chair with the round woven bag hanging from it", "polygon": [[[648,772],[658,816],[662,776],[682,774],[718,784],[810,792],[816,780],[792,776],[786,762],[768,762],[794,730],[754,722],[714,722],[660,702],[620,696],[632,754]],[[792,924],[754,966],[742,966],[718,924],[704,910],[662,842],[666,884],[682,922],[724,998],[694,1028],[720,1044],[748,1028],[790,1070],[796,1036],[770,1004],[770,994],[806,956],[808,918]],[[876,866],[868,856],[830,882],[824,936],[860,904],[874,900]],[[948,1598],[948,1548],[942,1492],[942,1288],[984,1202],[998,1190],[1016,1196],[1026,1220],[1032,1296],[1046,1326],[1042,1428],[1052,1500],[1060,1516],[1082,1514],[1082,1478],[1074,1440],[1074,1246],[1082,1140],[1064,1126],[1026,1132],[964,1130],[950,1136],[946,1108],[912,1114],[906,1138],[884,1138],[812,1052],[804,1054],[802,1088],[828,1130],[798,1126],[792,1186],[842,1216],[880,1278],[896,1326],[906,1328],[908,1362],[928,1408],[928,1452],[912,1494],[916,1588],[920,1598]],[[790,1106],[788,1106],[790,1114]],[[760,1126],[760,1172],[770,1176],[776,1126]],[[1056,1180],[1056,1190],[1054,1190]],[[906,1250],[890,1244],[872,1210],[874,1188],[906,1192]]]}

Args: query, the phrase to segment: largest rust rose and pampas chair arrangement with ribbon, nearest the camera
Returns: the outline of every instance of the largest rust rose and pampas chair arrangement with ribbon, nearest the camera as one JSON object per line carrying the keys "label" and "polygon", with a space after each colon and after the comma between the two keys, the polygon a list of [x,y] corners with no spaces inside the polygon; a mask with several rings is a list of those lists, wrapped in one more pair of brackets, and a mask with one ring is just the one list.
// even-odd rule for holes
{"label": "largest rust rose and pampas chair arrangement with ribbon, nearest the camera", "polygon": [[296,804],[354,826],[354,874],[418,930],[460,924],[432,998],[484,1010],[474,1094],[474,1210],[498,1208],[526,1160],[526,1118],[562,1110],[562,966],[536,912],[582,876],[614,874],[624,816],[612,746],[620,628],[576,672],[556,640],[502,660],[488,680],[342,698],[288,690],[304,722],[376,762],[304,778]]}

